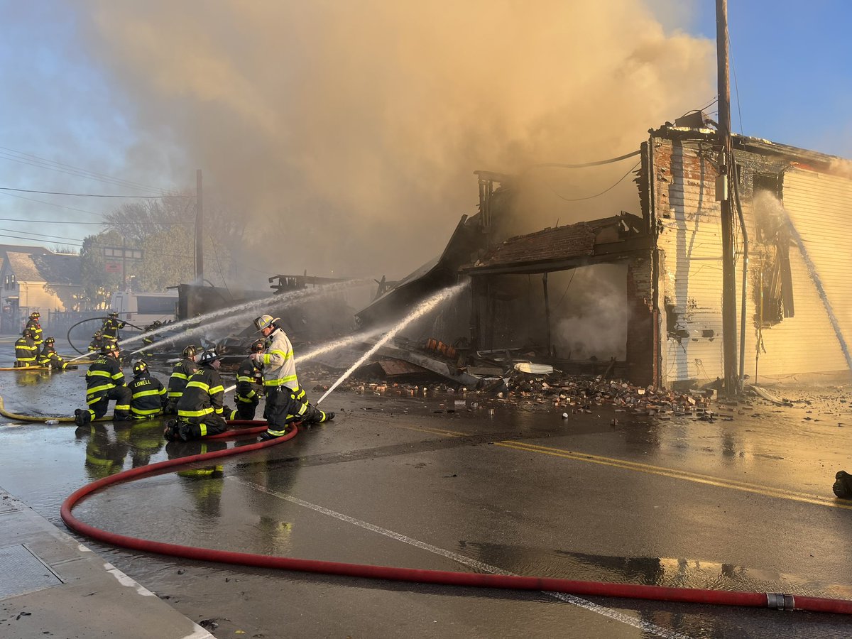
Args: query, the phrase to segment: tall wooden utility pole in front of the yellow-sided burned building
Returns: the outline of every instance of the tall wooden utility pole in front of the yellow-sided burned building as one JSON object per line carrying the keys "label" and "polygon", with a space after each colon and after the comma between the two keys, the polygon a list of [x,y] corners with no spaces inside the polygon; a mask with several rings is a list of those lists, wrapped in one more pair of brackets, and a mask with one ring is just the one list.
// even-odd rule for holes
{"label": "tall wooden utility pole in front of the yellow-sided burned building", "polygon": [[737,300],[734,266],[734,205],[731,180],[736,180],[731,151],[731,84],[728,71],[728,0],[716,0],[717,82],[719,91],[719,179],[717,200],[722,207],[722,354],[725,392],[739,394],[737,375]]}

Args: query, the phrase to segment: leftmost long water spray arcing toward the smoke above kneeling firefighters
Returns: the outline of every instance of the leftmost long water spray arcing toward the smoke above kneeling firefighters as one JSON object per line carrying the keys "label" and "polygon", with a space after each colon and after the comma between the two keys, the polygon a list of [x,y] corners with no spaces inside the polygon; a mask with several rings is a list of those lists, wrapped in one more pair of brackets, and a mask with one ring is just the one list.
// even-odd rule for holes
{"label": "leftmost long water spray arcing toward the smoke above kneeling firefighters", "polygon": [[[301,289],[299,291],[291,291],[290,293],[284,293],[281,295],[274,295],[271,297],[264,297],[260,300],[253,300],[251,302],[245,302],[240,304],[239,306],[234,306],[230,308],[224,308],[217,311],[213,311],[208,314],[199,315],[198,317],[193,317],[188,320],[181,320],[177,324],[166,325],[164,328],[157,329],[156,331],[149,331],[144,335],[137,335],[134,337],[130,337],[127,340],[122,341],[119,345],[124,343],[135,342],[136,340],[141,339],[142,337],[150,337],[155,335],[158,332],[164,331],[174,331],[176,327],[180,327],[181,325],[189,325],[187,330],[182,331],[179,335],[174,335],[171,337],[166,337],[164,339],[158,340],[158,342],[153,344],[147,344],[142,348],[138,348],[133,351],[131,355],[145,353],[148,350],[153,348],[160,348],[166,344],[174,343],[177,340],[185,339],[186,337],[193,336],[199,331],[210,331],[217,328],[222,328],[227,325],[237,325],[240,323],[245,323],[247,318],[252,317],[258,313],[258,309],[262,307],[268,307],[273,305],[276,309],[284,309],[289,308],[295,305],[297,302],[302,302],[305,297],[308,296],[324,296],[331,295],[337,291],[341,291],[345,288],[350,288],[352,286],[360,286],[365,285],[370,280],[366,279],[352,279],[346,282],[336,282],[334,284],[327,284],[317,286],[313,289]],[[224,316],[224,317],[222,317]],[[216,320],[216,318],[222,318]],[[213,320],[213,321],[209,321]]]}

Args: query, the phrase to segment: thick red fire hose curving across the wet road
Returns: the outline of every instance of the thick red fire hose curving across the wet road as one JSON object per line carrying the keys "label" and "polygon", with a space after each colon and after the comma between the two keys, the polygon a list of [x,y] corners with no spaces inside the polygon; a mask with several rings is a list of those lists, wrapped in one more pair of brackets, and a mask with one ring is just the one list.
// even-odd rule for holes
{"label": "thick red fire hose curving across the wet road", "polygon": [[[264,422],[238,420],[229,423],[233,425],[250,425]],[[240,429],[238,431],[228,431],[227,434],[216,436],[233,437],[265,429],[265,427]],[[124,470],[116,475],[110,475],[103,479],[93,481],[90,484],[79,488],[66,498],[60,510],[62,521],[65,521],[66,526],[72,530],[90,538],[97,539],[105,544],[122,546],[132,550],[141,550],[142,552],[158,553],[159,555],[183,557],[185,559],[193,559],[196,561],[218,561],[220,563],[237,564],[239,566],[278,568],[280,570],[297,570],[305,573],[336,574],[347,577],[388,579],[392,581],[407,581],[422,584],[445,584],[452,586],[474,586],[477,588],[502,588],[515,590],[547,590],[583,596],[624,597],[627,599],[650,599],[660,602],[713,603],[727,606],[770,607],[777,610],[807,610],[813,613],[852,614],[852,601],[843,599],[826,599],[822,597],[793,596],[765,592],[737,592],[729,590],[669,588],[653,585],[610,584],[596,581],[573,581],[572,579],[521,577],[515,575],[452,573],[443,570],[367,566],[362,564],[343,563],[340,561],[315,561],[308,559],[294,559],[292,557],[252,555],[250,553],[213,550],[210,548],[195,548],[193,546],[164,544],[163,542],[110,533],[108,531],[101,530],[100,528],[89,526],[89,524],[79,521],[74,515],[72,515],[72,509],[79,501],[93,492],[97,492],[107,486],[112,486],[112,484],[131,481],[148,475],[157,475],[163,472],[164,469],[170,469],[176,466],[207,462],[211,459],[229,457],[242,452],[268,448],[270,446],[275,446],[282,441],[292,439],[296,436],[297,432],[298,429],[294,428],[291,433],[279,437],[278,439],[260,441],[248,446],[239,446],[238,448],[207,452],[185,458],[170,459],[165,462],[152,463],[147,466]]]}

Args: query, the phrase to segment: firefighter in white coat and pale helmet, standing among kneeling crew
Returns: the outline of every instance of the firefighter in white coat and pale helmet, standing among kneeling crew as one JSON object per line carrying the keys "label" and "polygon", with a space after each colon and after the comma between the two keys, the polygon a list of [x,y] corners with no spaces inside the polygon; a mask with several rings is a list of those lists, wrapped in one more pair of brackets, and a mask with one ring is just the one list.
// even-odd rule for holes
{"label": "firefighter in white coat and pale helmet, standing among kneeling crew", "polygon": [[250,355],[252,360],[263,365],[263,388],[267,394],[264,415],[269,426],[261,438],[267,440],[285,435],[293,422],[312,424],[334,419],[333,412],[322,412],[312,406],[299,386],[293,345],[278,325],[279,321],[280,318],[273,319],[272,315],[261,315],[255,320],[257,331],[267,338],[267,348],[262,353]]}

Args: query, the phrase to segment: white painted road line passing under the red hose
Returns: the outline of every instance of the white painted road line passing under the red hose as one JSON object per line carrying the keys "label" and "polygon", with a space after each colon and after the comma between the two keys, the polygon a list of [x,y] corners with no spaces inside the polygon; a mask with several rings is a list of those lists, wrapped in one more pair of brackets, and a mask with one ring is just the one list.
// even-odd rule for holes
{"label": "white painted road line passing under the red hose", "polygon": [[[431,553],[434,553],[435,555],[446,557],[446,559],[458,561],[458,563],[463,564],[464,566],[474,568],[480,573],[500,574],[508,577],[517,576],[515,575],[515,573],[509,573],[503,568],[489,566],[488,564],[483,563],[481,561],[476,561],[475,559],[470,559],[469,557],[452,552],[452,550],[438,548],[437,546],[427,544],[426,542],[419,541],[418,539],[407,537],[406,535],[403,535],[401,533],[394,533],[394,531],[388,530],[387,528],[375,526],[374,524],[368,523],[366,521],[361,521],[360,519],[355,519],[354,517],[350,517],[349,515],[343,515],[343,513],[338,513],[335,510],[324,508],[323,506],[320,506],[318,504],[311,504],[310,502],[306,502],[303,499],[299,499],[293,497],[292,495],[285,494],[284,492],[273,491],[267,488],[266,486],[261,486],[260,484],[256,484],[253,481],[241,480],[231,475],[229,475],[227,479],[231,481],[236,481],[239,484],[242,484],[243,486],[250,486],[251,488],[255,488],[256,490],[259,490],[261,492],[266,492],[268,495],[272,495],[273,497],[284,499],[285,501],[288,501],[291,504],[296,504],[299,506],[303,506],[304,508],[316,510],[318,513],[334,517],[335,519],[339,519],[340,521],[346,521],[347,523],[353,524],[354,526],[369,530],[372,533],[379,533],[380,535],[384,535],[385,537],[401,541],[403,544],[409,544],[414,546],[415,548],[427,550]],[[690,639],[688,635],[682,635],[680,632],[675,632],[674,630],[666,630],[665,628],[662,628],[659,625],[652,624],[643,619],[635,619],[633,617],[630,617],[630,615],[619,612],[618,610],[613,610],[613,608],[598,605],[594,602],[587,601],[578,596],[568,595],[564,592],[550,591],[545,591],[544,594],[559,599],[561,602],[573,603],[575,606],[582,607],[586,610],[589,610],[590,612],[602,614],[604,617],[608,617],[609,619],[615,619],[616,621],[620,621],[623,624],[632,625],[633,627],[648,632],[654,636],[663,637],[663,639]]]}

